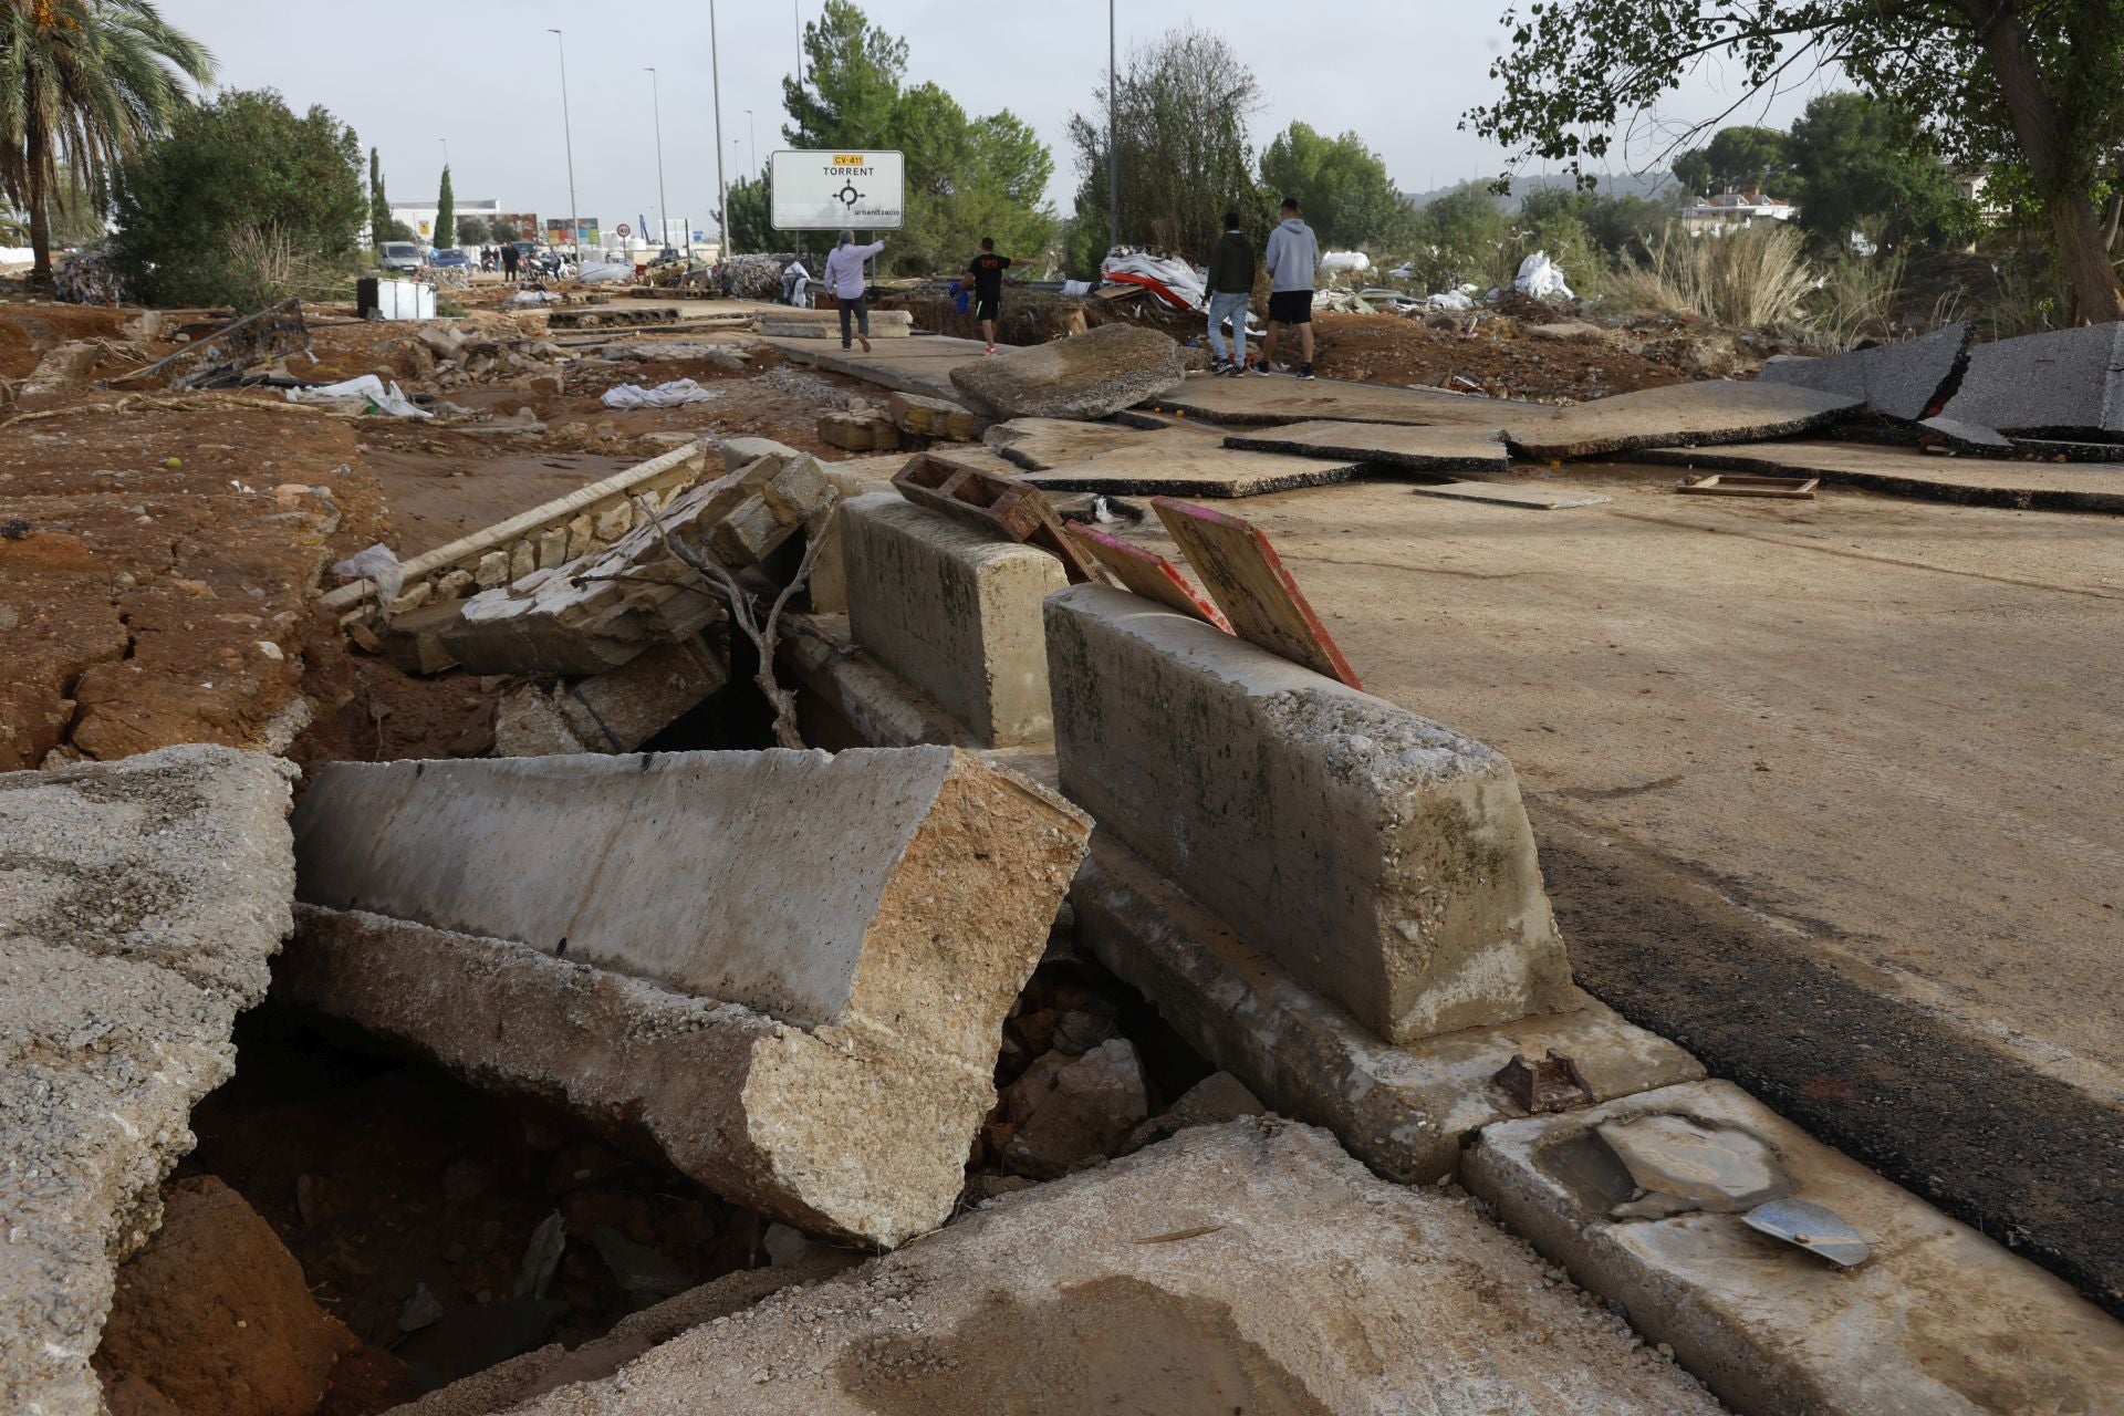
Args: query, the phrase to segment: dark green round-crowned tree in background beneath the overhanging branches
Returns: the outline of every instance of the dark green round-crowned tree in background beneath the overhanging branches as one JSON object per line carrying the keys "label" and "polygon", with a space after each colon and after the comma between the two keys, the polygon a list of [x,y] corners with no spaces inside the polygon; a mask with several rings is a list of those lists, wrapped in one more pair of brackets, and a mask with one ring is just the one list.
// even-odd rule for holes
{"label": "dark green round-crowned tree in background beneath the overhanging branches", "polygon": [[1799,225],[1842,251],[1852,231],[1892,248],[1975,231],[1975,212],[1909,125],[1865,93],[1822,93],[1793,123]]}

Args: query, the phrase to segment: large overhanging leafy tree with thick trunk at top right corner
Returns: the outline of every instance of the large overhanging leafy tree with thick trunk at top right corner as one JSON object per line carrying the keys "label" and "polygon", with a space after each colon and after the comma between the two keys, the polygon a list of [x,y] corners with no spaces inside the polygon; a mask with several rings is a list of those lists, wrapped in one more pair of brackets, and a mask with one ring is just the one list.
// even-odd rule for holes
{"label": "large overhanging leafy tree with thick trunk at top right corner", "polygon": [[1508,6],[1504,25],[1510,47],[1491,64],[1502,96],[1463,125],[1523,159],[1582,172],[1701,64],[1725,62],[1746,98],[1835,62],[1956,166],[2016,168],[2073,314],[2124,318],[2101,212],[2124,151],[2118,0],[1536,0]]}

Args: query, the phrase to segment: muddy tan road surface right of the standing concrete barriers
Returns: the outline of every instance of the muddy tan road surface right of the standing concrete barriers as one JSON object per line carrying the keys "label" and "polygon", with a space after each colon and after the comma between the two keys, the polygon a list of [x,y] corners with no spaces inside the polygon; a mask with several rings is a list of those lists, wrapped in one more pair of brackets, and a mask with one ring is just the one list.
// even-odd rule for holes
{"label": "muddy tan road surface right of the standing concrete barriers", "polygon": [[2116,1303],[2118,522],[1669,478],[1238,510],[1372,692],[1512,758],[1589,987]]}

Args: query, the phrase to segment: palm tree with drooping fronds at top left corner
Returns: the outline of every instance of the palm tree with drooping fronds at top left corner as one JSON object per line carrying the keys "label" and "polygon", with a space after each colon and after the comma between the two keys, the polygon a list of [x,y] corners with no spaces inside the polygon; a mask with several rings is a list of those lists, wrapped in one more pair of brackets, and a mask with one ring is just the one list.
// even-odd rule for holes
{"label": "palm tree with drooping fronds at top left corner", "polygon": [[102,191],[191,102],[185,79],[212,74],[215,55],[151,0],[0,0],[0,189],[30,217],[32,280],[51,280],[59,163]]}

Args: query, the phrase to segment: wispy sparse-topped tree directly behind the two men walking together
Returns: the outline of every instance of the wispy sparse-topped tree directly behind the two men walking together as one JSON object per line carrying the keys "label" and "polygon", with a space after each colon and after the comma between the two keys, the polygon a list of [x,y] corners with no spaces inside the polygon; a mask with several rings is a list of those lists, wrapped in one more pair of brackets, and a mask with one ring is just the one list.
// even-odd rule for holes
{"label": "wispy sparse-topped tree directly behind the two men walking together", "polygon": [[[1209,30],[1183,25],[1130,51],[1115,89],[1121,240],[1209,255],[1228,210],[1266,240],[1274,204],[1253,178],[1247,142],[1262,85],[1236,51]],[[1104,85],[1092,91],[1087,113],[1070,115],[1068,136],[1079,174],[1070,265],[1096,272],[1109,236]]]}

